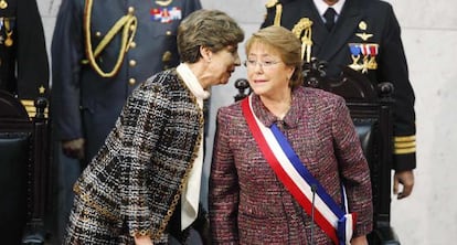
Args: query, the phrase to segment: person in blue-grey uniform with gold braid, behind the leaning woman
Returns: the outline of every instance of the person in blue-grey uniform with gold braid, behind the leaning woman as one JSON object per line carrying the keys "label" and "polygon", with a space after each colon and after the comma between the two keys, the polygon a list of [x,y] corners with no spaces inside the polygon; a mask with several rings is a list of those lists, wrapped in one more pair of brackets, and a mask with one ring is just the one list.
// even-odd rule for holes
{"label": "person in blue-grey uniform with gold braid, behind the leaning woman", "polygon": [[179,64],[177,28],[198,9],[199,0],[62,1],[52,42],[61,235],[81,170],[102,147],[128,95],[147,77]]}

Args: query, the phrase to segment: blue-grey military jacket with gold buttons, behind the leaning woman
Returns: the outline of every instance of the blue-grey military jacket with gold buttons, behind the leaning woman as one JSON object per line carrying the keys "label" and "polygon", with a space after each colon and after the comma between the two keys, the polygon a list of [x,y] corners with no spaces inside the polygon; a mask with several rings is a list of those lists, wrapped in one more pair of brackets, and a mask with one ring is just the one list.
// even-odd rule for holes
{"label": "blue-grey military jacket with gold buttons, behind the leaning woman", "polygon": [[[86,138],[86,155],[91,158],[114,127],[131,90],[155,73],[178,65],[177,28],[189,13],[201,9],[201,4],[199,0],[94,0],[92,14],[85,15],[86,2],[89,1],[62,2],[52,57],[59,138]],[[83,63],[88,49],[84,21],[89,20],[89,42],[95,51],[115,23],[128,14],[137,18],[134,39],[116,74],[103,77],[92,65]],[[111,71],[123,52],[123,31],[95,57],[103,72]]]}

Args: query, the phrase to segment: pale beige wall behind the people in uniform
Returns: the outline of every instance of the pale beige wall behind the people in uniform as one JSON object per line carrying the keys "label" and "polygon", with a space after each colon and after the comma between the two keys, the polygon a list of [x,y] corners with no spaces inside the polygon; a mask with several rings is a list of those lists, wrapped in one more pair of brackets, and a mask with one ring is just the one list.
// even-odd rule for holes
{"label": "pale beige wall behind the people in uniform", "polygon": [[[38,0],[47,38],[60,0]],[[202,0],[203,7],[221,9],[234,17],[251,34],[258,29],[266,0]],[[416,185],[411,198],[393,200],[392,223],[405,245],[451,244],[457,241],[457,2],[449,0],[389,0],[403,28],[403,41],[416,92]],[[244,60],[244,49],[241,49]],[[215,110],[232,103],[233,82],[244,77],[240,67],[227,87],[212,93]],[[211,124],[211,134],[214,124]],[[211,146],[211,142],[209,143]],[[206,168],[208,170],[208,168]]]}

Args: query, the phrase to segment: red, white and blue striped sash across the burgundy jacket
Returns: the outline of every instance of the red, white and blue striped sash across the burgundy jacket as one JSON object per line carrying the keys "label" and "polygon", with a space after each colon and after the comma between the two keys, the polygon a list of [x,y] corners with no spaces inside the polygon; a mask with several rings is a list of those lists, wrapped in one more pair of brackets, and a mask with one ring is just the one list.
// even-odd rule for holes
{"label": "red, white and blue striped sash across the burgundy jacket", "polygon": [[[241,103],[243,115],[267,162],[308,215],[313,213],[316,223],[334,244],[350,244],[355,214],[341,210],[301,163],[276,125],[267,128],[258,120],[252,109],[251,97]],[[311,187],[316,187],[316,195]],[[311,202],[313,198],[315,202]]]}

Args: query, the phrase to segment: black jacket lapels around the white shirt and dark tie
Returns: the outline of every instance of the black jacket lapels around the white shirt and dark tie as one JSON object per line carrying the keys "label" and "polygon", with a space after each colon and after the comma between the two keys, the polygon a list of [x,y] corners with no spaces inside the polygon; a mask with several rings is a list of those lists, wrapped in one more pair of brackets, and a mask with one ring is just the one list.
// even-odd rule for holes
{"label": "black jacket lapels around the white shirt and dark tie", "polygon": [[[310,2],[312,3],[312,1]],[[346,0],[341,15],[330,33],[317,13],[316,7],[312,8],[320,20],[320,24],[316,24],[315,29],[312,29],[313,43],[317,47],[313,50],[313,56],[319,57],[319,60],[330,61],[339,50],[348,45],[348,39],[354,35],[354,31],[363,17],[360,11],[361,6],[359,0]]]}

